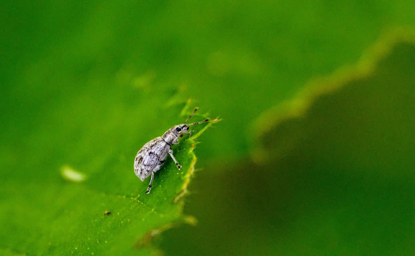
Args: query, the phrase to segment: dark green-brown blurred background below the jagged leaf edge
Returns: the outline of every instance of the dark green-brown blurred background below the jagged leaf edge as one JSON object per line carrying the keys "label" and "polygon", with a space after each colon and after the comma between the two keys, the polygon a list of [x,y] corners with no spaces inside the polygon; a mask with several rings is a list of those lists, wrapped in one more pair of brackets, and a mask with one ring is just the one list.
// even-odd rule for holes
{"label": "dark green-brown blurred background below the jagged leaf edge", "polygon": [[173,255],[411,255],[413,63],[415,46],[399,44],[373,75],[264,134],[266,164],[201,171],[185,207],[200,225],[166,232],[161,247]]}

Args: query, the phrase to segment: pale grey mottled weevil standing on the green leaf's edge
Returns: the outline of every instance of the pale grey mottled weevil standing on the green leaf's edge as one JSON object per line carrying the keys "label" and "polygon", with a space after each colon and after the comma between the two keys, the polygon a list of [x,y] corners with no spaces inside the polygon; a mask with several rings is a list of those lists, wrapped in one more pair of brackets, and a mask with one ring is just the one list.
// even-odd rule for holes
{"label": "pale grey mottled weevil standing on the green leaf's edge", "polygon": [[151,175],[149,188],[147,188],[146,194],[150,193],[151,184],[153,184],[154,173],[163,166],[167,155],[170,155],[177,168],[179,170],[181,169],[181,165],[177,162],[176,158],[174,158],[173,150],[171,150],[171,145],[178,144],[178,138],[180,135],[190,135],[193,132],[193,130],[188,132],[189,126],[205,123],[210,120],[206,119],[198,123],[186,124],[197,110],[198,108],[195,108],[193,113],[186,119],[183,124],[173,126],[172,128],[168,129],[163,134],[163,136],[150,140],[138,151],[137,156],[134,160],[135,175],[137,175],[141,181],[144,181],[146,178],[148,178],[148,176]]}

